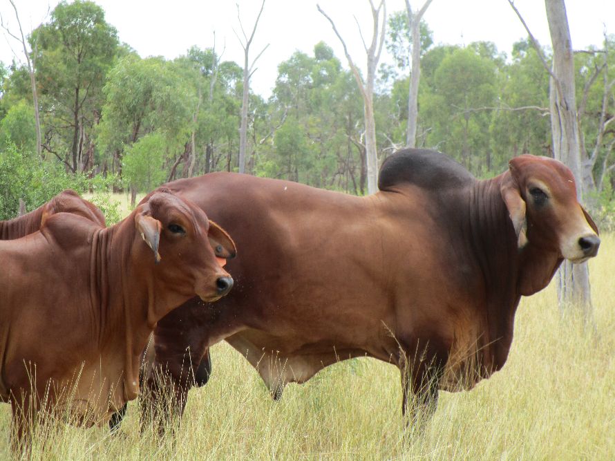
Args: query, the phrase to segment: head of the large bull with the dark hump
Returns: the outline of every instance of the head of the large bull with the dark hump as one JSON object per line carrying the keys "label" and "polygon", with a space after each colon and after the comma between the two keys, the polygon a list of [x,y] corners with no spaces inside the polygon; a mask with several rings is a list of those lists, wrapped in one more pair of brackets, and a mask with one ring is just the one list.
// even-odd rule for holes
{"label": "head of the large bull with the dark hump", "polygon": [[598,227],[576,199],[568,167],[547,157],[523,155],[509,162],[500,192],[518,245],[527,241],[573,263],[596,256]]}

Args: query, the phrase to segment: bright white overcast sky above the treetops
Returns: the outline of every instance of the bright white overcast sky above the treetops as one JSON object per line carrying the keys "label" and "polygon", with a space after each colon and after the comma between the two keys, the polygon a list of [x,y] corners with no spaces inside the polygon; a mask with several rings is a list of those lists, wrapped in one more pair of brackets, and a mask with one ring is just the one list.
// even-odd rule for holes
{"label": "bright white overcast sky above the treetops", "polygon": [[[377,0],[375,0],[377,1]],[[413,8],[424,0],[410,0]],[[16,0],[24,33],[47,21],[48,7],[57,0]],[[169,59],[185,54],[192,45],[207,48],[214,45],[223,59],[243,66],[243,48],[234,33],[241,35],[236,3],[246,33],[252,30],[261,0],[97,0],[106,12],[106,20],[117,28],[120,40],[132,46],[141,57],[162,55]],[[294,50],[312,54],[314,44],[323,40],[334,49],[343,64],[346,59],[339,40],[328,21],[316,10],[316,3],[335,21],[348,44],[354,62],[363,66],[365,52],[358,32],[370,41],[371,12],[368,0],[265,0],[265,9],[258,23],[251,47],[258,59],[252,88],[267,97],[275,84],[277,66]],[[615,0],[567,0],[568,20],[575,49],[590,44],[599,46],[603,30],[615,33]],[[541,0],[515,0],[533,35],[542,45],[549,45],[545,3]],[[404,0],[386,0],[387,12],[403,10]],[[0,13],[12,30],[17,30],[15,13],[8,0],[0,0]],[[357,18],[355,21],[354,17]],[[522,24],[507,0],[433,0],[424,19],[435,44],[469,44],[472,41],[493,41],[498,50],[508,55],[513,42],[526,35]],[[10,63],[12,50],[21,57],[19,43],[0,38],[0,60]]]}

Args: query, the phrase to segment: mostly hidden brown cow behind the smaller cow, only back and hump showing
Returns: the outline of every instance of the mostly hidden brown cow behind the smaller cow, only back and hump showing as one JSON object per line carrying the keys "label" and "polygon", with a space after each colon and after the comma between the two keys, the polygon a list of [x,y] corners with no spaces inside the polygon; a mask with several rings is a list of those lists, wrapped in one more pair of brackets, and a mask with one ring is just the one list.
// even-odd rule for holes
{"label": "mostly hidden brown cow behind the smaller cow, only back and hump showing", "polygon": [[19,218],[0,221],[0,240],[13,240],[37,232],[46,218],[61,212],[83,216],[105,227],[104,215],[100,209],[81,198],[77,192],[66,189],[30,213]]}

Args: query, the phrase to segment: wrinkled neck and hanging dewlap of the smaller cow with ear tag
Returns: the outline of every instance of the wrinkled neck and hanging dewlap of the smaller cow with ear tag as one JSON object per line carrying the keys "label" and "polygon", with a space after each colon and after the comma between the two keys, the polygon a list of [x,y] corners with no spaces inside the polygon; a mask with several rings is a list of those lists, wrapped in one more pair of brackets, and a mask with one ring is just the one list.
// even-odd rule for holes
{"label": "wrinkled neck and hanging dewlap of the smaller cow with ear tag", "polygon": [[[156,301],[151,272],[138,270],[131,260],[135,233],[131,218],[99,229],[93,237],[91,258],[91,303],[100,319],[99,346],[111,344],[112,350],[122,351],[126,399],[138,394],[140,354],[155,326],[151,319]],[[118,344],[120,341],[123,344]]]}

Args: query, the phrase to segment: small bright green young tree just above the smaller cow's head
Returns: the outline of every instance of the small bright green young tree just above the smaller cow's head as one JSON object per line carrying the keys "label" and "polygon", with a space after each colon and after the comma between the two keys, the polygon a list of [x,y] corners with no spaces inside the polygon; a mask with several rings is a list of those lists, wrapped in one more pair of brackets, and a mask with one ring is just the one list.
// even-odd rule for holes
{"label": "small bright green young tree just above the smaller cow's head", "polygon": [[124,181],[137,191],[151,191],[166,179],[162,164],[166,154],[162,133],[149,133],[126,148],[122,164]]}

